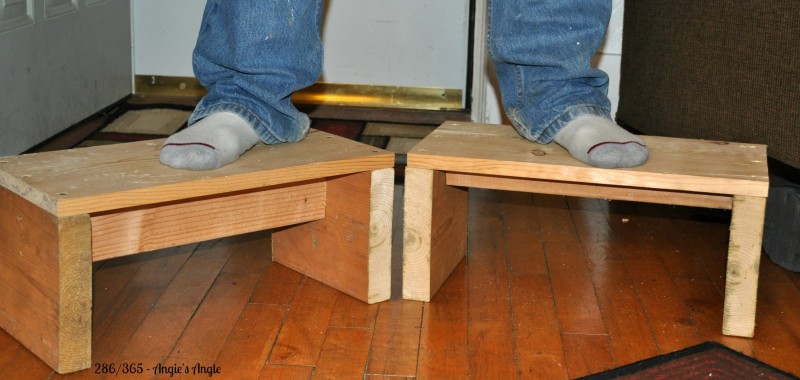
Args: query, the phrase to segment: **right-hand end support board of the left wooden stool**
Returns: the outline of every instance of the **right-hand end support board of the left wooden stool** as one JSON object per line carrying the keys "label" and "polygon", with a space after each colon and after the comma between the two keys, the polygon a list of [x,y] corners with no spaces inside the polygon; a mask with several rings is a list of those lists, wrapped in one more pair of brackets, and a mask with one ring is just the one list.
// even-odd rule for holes
{"label": "right-hand end support board of the left wooden stool", "polygon": [[326,217],[277,231],[273,259],[364,302],[388,299],[394,190],[390,172],[393,169],[328,180]]}

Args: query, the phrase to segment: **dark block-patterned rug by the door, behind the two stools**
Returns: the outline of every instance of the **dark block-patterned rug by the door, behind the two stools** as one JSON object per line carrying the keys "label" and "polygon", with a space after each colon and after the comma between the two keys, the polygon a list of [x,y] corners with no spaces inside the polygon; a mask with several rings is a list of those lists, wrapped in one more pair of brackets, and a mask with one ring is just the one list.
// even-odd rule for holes
{"label": "dark block-patterned rug by the door, behind the two stools", "polygon": [[[104,116],[104,124],[75,147],[165,138],[187,126],[192,106],[123,102]],[[405,154],[435,129],[429,125],[312,119],[311,128],[395,153],[395,175],[402,181]]]}

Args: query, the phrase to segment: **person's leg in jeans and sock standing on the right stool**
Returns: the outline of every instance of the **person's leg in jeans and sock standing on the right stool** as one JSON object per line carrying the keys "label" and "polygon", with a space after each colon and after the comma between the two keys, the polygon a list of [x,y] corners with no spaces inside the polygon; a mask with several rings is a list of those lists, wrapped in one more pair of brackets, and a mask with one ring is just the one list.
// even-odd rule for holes
{"label": "person's leg in jeans and sock standing on the right stool", "polygon": [[599,167],[647,161],[644,142],[613,123],[608,76],[590,62],[611,15],[611,0],[495,0],[489,53],[503,106],[516,130],[555,140]]}

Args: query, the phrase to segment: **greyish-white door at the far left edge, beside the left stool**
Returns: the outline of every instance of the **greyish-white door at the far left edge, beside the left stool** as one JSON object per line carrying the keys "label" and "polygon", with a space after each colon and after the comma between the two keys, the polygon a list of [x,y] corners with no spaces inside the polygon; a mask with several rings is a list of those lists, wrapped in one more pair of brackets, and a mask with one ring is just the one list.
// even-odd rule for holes
{"label": "greyish-white door at the far left edge, beside the left stool", "polygon": [[0,156],[131,94],[129,0],[0,0]]}

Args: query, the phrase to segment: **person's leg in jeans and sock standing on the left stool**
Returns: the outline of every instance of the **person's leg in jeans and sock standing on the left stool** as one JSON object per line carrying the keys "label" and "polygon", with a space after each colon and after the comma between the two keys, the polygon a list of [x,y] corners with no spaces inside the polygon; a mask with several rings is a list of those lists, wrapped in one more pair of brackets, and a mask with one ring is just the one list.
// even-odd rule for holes
{"label": "person's leg in jeans and sock standing on the left stool", "polygon": [[190,127],[167,139],[161,161],[214,169],[259,141],[302,140],[310,121],[291,95],[322,71],[321,17],[321,0],[208,0],[193,55],[208,94]]}

